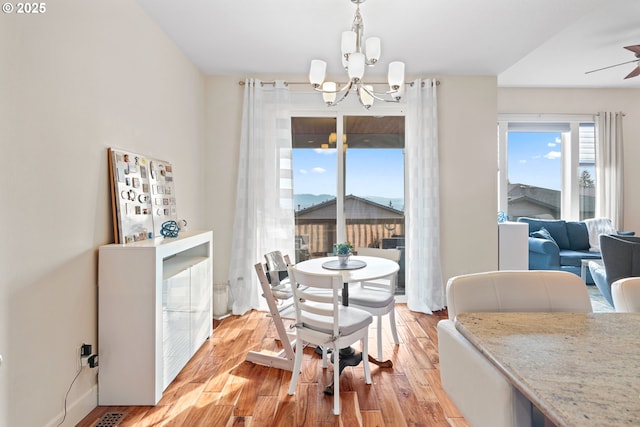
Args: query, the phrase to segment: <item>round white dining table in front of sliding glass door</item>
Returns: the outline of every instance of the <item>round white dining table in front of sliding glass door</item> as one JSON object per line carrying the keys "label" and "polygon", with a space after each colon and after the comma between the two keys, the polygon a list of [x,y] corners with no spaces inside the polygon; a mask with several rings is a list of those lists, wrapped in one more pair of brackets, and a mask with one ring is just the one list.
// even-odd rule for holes
{"label": "round white dining table in front of sliding glass door", "polygon": [[352,255],[351,258],[349,258],[349,263],[352,264],[353,261],[364,262],[365,265],[363,267],[353,269],[329,269],[323,267],[323,264],[333,261],[335,261],[334,264],[337,264],[338,257],[313,258],[297,263],[296,268],[305,273],[313,274],[340,273],[342,275],[342,282],[344,283],[342,288],[342,305],[345,306],[349,305],[349,283],[381,279],[394,274],[400,269],[398,263],[390,259],[357,255]]}

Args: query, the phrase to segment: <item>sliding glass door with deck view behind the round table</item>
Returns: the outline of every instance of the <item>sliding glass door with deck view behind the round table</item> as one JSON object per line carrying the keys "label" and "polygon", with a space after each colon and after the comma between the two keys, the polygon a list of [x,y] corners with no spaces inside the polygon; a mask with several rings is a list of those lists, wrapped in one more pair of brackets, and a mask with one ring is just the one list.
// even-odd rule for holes
{"label": "sliding glass door with deck view behind the round table", "polygon": [[404,116],[293,117],[291,129],[296,262],[343,240],[402,249]]}

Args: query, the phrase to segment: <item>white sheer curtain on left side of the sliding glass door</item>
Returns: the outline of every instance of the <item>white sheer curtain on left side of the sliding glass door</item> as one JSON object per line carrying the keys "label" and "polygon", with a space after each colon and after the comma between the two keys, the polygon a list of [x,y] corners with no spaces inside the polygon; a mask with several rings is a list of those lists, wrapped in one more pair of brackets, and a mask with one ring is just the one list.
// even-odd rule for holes
{"label": "white sheer curtain on left side of the sliding glass door", "polygon": [[254,269],[265,253],[294,254],[289,91],[282,81],[245,83],[229,266],[233,314],[266,307]]}

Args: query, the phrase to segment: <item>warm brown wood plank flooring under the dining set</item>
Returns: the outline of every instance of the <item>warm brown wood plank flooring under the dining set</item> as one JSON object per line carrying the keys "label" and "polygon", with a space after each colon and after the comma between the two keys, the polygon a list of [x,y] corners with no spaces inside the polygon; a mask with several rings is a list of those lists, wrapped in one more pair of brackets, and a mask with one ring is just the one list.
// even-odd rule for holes
{"label": "warm brown wood plank flooring under the dining set", "polygon": [[[371,366],[373,384],[364,383],[362,365],[346,368],[340,379],[342,414],[334,416],[333,398],[325,396],[332,367],[305,349],[296,394],[287,394],[291,372],[246,362],[249,350],[278,351],[280,342],[267,313],[252,311],[214,321],[213,337],[200,348],[165,390],[156,406],[99,406],[78,427],[93,427],[107,412],[125,412],[127,426],[450,426],[468,427],[440,384],[436,323],[433,315],[397,304],[401,344],[393,343],[383,319],[384,359],[393,368]],[[287,323],[287,322],[286,322]],[[375,321],[369,351],[377,354]]]}

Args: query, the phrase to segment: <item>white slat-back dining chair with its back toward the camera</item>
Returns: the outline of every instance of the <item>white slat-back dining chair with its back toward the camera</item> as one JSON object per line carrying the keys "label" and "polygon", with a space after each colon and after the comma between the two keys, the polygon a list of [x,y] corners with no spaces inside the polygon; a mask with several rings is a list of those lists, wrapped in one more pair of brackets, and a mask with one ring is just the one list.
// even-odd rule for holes
{"label": "white slat-back dining chair with its back toward the camera", "polygon": [[[360,341],[362,354],[368,354],[370,313],[341,303],[342,275],[312,274],[289,267],[296,309],[296,354],[289,395],[295,394],[304,345],[315,344],[333,352],[333,413],[340,415],[340,349]],[[330,291],[330,292],[327,292]],[[369,360],[362,358],[365,382],[371,384]]]}

